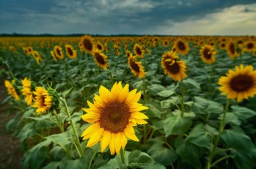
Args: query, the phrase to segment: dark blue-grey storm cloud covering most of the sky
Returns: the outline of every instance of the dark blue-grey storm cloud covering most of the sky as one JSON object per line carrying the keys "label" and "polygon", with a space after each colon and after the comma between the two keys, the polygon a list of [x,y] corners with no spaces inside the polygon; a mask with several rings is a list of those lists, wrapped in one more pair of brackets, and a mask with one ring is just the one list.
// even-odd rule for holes
{"label": "dark blue-grey storm cloud covering most of the sky", "polygon": [[[188,26],[191,20],[213,19],[211,13],[222,13],[236,5],[246,5],[239,12],[250,14],[252,9],[248,4],[252,3],[249,0],[9,0],[0,2],[0,33],[167,34],[177,23]],[[249,19],[255,23],[254,17]],[[192,33],[187,30],[185,34]]]}

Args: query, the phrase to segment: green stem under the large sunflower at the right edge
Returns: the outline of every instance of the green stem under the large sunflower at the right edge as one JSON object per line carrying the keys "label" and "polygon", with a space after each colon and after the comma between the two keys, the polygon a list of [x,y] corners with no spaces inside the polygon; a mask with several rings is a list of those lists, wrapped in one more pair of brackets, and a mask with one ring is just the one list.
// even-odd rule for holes
{"label": "green stem under the large sunflower at the right edge", "polygon": [[212,148],[210,157],[209,157],[208,162],[207,162],[207,166],[205,167],[207,169],[210,169],[212,167],[211,163],[212,163],[212,160],[214,159],[214,156],[216,154],[216,148],[217,148],[217,146],[218,146],[218,144],[220,142],[220,135],[222,134],[222,131],[224,130],[224,127],[225,127],[226,113],[228,111],[229,105],[230,105],[230,99],[228,99],[226,101],[226,107],[225,107],[224,112],[223,112],[223,118],[220,121],[219,132],[218,132],[218,135],[217,135],[217,137],[215,139],[214,146]]}

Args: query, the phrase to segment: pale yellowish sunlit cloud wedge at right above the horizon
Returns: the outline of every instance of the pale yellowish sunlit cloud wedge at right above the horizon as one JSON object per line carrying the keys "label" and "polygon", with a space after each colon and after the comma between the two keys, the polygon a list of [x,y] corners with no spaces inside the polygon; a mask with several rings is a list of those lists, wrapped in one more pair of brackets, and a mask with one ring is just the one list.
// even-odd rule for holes
{"label": "pale yellowish sunlit cloud wedge at right above the horizon", "polygon": [[186,21],[169,19],[152,32],[174,35],[247,35],[256,34],[256,3],[234,5],[203,17],[188,17]]}

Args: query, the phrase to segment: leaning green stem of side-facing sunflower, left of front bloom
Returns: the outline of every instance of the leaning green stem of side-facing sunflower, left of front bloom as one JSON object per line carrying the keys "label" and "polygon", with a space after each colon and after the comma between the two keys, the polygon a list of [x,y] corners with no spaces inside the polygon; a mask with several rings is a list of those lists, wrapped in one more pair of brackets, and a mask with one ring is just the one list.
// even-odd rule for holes
{"label": "leaning green stem of side-facing sunflower, left of front bloom", "polygon": [[82,157],[82,156],[84,156],[84,152],[83,152],[83,149],[82,149],[81,144],[79,142],[79,137],[77,135],[77,131],[75,130],[75,124],[73,123],[73,121],[71,119],[71,115],[69,113],[69,108],[67,107],[67,102],[63,98],[60,98],[60,101],[64,104],[65,112],[67,113],[67,117],[69,117],[69,119],[70,119],[70,124],[71,124],[71,127],[73,129],[73,133],[75,135],[75,146],[77,147],[77,153],[79,154],[80,157]]}

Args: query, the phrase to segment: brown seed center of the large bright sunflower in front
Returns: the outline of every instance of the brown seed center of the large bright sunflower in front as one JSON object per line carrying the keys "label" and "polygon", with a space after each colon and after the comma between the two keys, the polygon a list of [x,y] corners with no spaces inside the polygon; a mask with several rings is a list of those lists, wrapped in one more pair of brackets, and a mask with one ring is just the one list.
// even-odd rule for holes
{"label": "brown seed center of the large bright sunflower in front", "polygon": [[123,132],[129,124],[131,112],[125,103],[108,103],[101,111],[100,127],[111,133]]}

